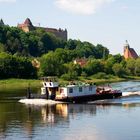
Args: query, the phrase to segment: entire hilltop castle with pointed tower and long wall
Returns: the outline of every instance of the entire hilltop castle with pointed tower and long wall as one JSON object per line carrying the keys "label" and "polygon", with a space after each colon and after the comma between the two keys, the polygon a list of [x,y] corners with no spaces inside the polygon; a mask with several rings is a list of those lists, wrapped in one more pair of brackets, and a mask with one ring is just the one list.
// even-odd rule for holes
{"label": "entire hilltop castle with pointed tower and long wall", "polygon": [[33,31],[35,29],[41,28],[41,29],[44,29],[48,33],[53,33],[58,38],[61,38],[63,40],[67,40],[67,30],[66,29],[63,30],[61,28],[55,29],[55,28],[48,28],[48,27],[46,27],[46,28],[45,27],[37,27],[37,26],[34,26],[32,24],[32,22],[29,18],[27,18],[24,21],[24,23],[18,24],[17,26],[18,26],[18,28],[22,29],[25,32],[30,32],[30,31]]}

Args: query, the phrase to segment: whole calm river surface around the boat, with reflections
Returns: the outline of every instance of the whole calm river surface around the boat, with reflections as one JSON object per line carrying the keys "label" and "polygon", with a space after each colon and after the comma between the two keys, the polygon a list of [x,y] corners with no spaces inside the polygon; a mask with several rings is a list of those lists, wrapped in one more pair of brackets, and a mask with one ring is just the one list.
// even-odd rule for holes
{"label": "whole calm river surface around the boat, with reflections", "polygon": [[37,106],[21,104],[19,94],[8,94],[0,99],[0,140],[140,140],[140,96],[133,95],[139,93],[140,82],[111,86],[131,96]]}

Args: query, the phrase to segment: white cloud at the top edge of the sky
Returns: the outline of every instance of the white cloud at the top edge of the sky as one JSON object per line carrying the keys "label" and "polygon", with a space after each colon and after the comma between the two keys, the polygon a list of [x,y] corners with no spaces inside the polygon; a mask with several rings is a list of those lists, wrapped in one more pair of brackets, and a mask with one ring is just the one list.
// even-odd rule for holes
{"label": "white cloud at the top edge of the sky", "polygon": [[67,12],[91,15],[96,10],[114,0],[55,0],[55,5]]}

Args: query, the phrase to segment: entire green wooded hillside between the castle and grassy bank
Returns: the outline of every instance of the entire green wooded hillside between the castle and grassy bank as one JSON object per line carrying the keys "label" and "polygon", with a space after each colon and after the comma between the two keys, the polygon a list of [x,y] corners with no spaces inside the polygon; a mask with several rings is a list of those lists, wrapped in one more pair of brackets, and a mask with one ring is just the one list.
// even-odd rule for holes
{"label": "entire green wooded hillside between the castle and grassy bank", "polygon": [[[33,65],[34,59],[39,67]],[[84,59],[86,64],[74,64],[75,59]],[[120,54],[110,54],[101,44],[64,41],[43,29],[25,33],[16,27],[0,26],[0,79],[42,76],[64,80],[140,76],[140,58],[125,60]]]}

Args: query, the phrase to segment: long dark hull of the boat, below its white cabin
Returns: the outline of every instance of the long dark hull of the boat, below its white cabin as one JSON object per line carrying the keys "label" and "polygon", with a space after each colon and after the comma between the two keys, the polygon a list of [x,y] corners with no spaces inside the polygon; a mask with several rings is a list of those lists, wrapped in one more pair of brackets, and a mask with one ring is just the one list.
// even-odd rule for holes
{"label": "long dark hull of the boat, below its white cabin", "polygon": [[84,102],[90,102],[90,101],[95,101],[95,100],[114,99],[121,96],[122,96],[122,92],[118,92],[118,93],[105,93],[105,94],[94,94],[94,95],[87,95],[87,96],[77,96],[77,97],[56,98],[55,101],[84,103]]}

